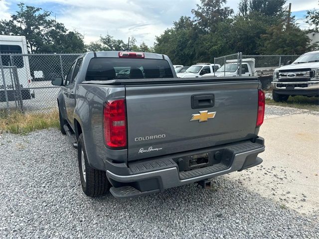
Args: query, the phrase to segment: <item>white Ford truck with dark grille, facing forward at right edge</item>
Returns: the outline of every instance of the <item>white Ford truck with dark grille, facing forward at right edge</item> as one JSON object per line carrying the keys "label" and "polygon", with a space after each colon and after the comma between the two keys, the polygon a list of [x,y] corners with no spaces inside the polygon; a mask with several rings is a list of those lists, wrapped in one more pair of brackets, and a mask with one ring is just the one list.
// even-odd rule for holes
{"label": "white Ford truck with dark grille, facing forward at right edge", "polygon": [[272,87],[276,102],[287,101],[289,96],[319,97],[319,51],[275,69]]}

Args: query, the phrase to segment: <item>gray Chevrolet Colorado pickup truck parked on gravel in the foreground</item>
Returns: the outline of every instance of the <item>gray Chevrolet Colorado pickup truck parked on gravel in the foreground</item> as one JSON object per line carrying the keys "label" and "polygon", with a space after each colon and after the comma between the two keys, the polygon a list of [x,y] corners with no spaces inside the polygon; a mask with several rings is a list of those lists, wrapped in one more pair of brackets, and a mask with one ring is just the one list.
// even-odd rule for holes
{"label": "gray Chevrolet Colorado pickup truck parked on gravel in the foreground", "polygon": [[167,56],[88,52],[57,101],[78,150],[82,189],[117,198],[241,171],[262,162],[265,96],[255,77],[177,78]]}

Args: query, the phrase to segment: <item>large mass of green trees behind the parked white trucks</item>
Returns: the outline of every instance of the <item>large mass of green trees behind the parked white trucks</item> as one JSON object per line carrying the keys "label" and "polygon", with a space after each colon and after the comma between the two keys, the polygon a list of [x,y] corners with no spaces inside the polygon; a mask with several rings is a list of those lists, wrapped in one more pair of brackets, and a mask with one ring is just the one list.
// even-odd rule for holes
{"label": "large mass of green trees behind the parked white trucks", "polygon": [[298,54],[308,49],[306,32],[294,24],[286,27],[286,0],[241,0],[233,16],[225,2],[201,0],[192,10],[194,20],[182,16],[156,37],[155,51],[175,64],[189,65],[236,52]]}

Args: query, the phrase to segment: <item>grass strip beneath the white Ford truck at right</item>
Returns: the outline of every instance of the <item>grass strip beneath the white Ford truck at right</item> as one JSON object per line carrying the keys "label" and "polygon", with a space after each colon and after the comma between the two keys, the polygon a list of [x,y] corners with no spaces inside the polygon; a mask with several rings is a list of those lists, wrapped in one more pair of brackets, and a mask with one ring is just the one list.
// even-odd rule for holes
{"label": "grass strip beneath the white Ford truck at right", "polygon": [[319,111],[318,97],[305,97],[305,96],[290,96],[287,102],[275,102],[271,99],[266,99],[267,105],[292,107],[297,109],[306,109],[310,111]]}

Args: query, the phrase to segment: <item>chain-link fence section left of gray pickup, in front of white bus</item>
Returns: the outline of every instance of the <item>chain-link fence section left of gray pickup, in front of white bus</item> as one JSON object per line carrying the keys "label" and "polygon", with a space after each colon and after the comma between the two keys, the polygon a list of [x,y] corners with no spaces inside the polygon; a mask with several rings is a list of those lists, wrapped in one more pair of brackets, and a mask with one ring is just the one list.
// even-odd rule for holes
{"label": "chain-link fence section left of gray pickup, in front of white bus", "polygon": [[67,75],[80,54],[0,54],[0,110],[49,112],[57,106],[54,77]]}

